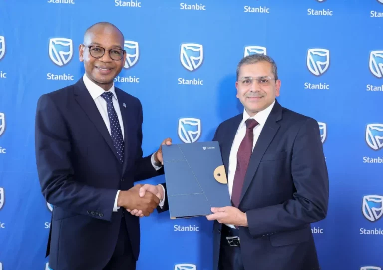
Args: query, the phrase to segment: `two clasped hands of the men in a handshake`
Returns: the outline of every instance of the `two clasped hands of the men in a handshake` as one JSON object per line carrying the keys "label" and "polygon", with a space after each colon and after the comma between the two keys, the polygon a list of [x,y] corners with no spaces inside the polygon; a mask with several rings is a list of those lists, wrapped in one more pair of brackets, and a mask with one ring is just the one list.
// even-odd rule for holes
{"label": "two clasped hands of the men in a handshake", "polygon": [[129,190],[121,190],[118,194],[117,206],[124,207],[135,216],[149,216],[164,199],[161,185],[137,184]]}

